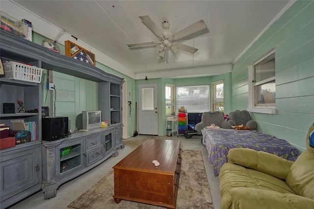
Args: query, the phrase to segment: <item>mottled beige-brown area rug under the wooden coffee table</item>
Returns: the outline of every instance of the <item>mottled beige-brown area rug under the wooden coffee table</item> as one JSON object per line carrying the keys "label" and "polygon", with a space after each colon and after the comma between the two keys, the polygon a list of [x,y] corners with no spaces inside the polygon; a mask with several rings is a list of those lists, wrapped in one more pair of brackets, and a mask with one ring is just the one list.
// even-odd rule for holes
{"label": "mottled beige-brown area rug under the wooden coffee table", "polygon": [[[182,150],[182,166],[176,209],[214,209],[202,153]],[[163,207],[122,200],[116,204],[113,169],[73,201],[71,209],[164,209]]]}

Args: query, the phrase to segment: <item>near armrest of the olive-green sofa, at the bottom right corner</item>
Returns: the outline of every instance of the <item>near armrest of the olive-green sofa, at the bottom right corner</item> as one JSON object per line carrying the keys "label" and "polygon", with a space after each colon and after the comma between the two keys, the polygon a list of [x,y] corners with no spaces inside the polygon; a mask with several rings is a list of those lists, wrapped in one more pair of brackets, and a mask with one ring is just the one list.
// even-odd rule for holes
{"label": "near armrest of the olive-green sofa, at the bottom right corner", "polygon": [[236,187],[230,189],[233,209],[310,209],[314,200],[276,191]]}

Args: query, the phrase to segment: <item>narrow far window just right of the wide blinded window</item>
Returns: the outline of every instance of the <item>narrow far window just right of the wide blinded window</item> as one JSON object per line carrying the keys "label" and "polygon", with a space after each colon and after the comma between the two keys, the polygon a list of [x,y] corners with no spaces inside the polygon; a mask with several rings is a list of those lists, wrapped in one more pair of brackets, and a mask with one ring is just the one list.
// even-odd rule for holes
{"label": "narrow far window just right of the wide blinded window", "polygon": [[212,110],[224,111],[224,82],[212,83]]}

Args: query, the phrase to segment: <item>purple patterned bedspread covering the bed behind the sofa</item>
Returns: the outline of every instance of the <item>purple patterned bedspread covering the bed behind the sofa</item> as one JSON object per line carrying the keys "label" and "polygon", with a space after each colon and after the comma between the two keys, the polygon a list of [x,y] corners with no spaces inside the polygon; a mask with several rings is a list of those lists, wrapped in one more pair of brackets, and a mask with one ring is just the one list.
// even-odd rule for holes
{"label": "purple patterned bedspread covering the bed behind the sofa", "polygon": [[227,155],[232,148],[242,147],[264,151],[290,161],[295,161],[300,155],[299,151],[286,140],[257,131],[205,129],[203,144],[208,150],[208,159],[215,176],[219,175],[221,166],[228,162]]}

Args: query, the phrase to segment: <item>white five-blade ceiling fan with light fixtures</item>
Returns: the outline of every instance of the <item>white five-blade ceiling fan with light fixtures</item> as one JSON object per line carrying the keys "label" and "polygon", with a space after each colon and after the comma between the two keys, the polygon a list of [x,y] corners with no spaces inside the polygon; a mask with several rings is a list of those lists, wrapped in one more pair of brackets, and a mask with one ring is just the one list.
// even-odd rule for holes
{"label": "white five-blade ceiling fan with light fixtures", "polygon": [[189,53],[195,53],[198,49],[194,47],[187,46],[185,44],[179,42],[172,42],[182,39],[188,35],[191,35],[197,31],[207,28],[204,20],[200,20],[190,26],[185,27],[184,29],[180,30],[179,32],[173,33],[169,30],[170,24],[168,21],[163,21],[161,23],[162,30],[160,30],[157,25],[152,21],[152,19],[148,16],[140,16],[139,17],[143,23],[151,29],[151,31],[157,36],[159,39],[158,42],[151,41],[151,42],[142,42],[142,43],[132,43],[127,44],[129,47],[141,47],[141,46],[148,46],[148,45],[156,45],[156,48],[159,52],[157,56],[158,59],[162,59],[165,57],[165,63],[168,62],[168,51],[169,49],[171,52],[176,52],[178,49],[183,50]]}

